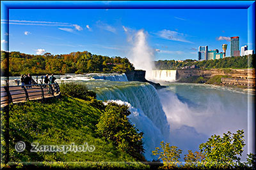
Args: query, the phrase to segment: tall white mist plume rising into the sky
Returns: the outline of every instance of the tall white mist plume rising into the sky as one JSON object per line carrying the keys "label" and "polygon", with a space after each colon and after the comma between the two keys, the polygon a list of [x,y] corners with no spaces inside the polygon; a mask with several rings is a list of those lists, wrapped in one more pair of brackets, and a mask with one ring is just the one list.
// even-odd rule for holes
{"label": "tall white mist plume rising into the sky", "polygon": [[148,46],[147,33],[142,29],[133,37],[132,49],[128,54],[135,69],[143,69],[146,71],[145,78],[150,78],[152,69],[154,69],[154,50]]}

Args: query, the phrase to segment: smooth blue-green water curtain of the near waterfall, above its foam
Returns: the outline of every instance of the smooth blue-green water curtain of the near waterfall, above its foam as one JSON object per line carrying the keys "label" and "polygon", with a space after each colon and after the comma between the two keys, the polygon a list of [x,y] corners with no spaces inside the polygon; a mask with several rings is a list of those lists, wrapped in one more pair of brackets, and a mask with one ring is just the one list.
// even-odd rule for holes
{"label": "smooth blue-green water curtain of the near waterfall, above its foam", "polygon": [[169,132],[170,128],[159,96],[156,89],[149,83],[128,86],[111,85],[111,87],[95,89],[95,92],[97,92],[97,99],[102,101],[121,100],[130,103],[142,110],[163,134]]}

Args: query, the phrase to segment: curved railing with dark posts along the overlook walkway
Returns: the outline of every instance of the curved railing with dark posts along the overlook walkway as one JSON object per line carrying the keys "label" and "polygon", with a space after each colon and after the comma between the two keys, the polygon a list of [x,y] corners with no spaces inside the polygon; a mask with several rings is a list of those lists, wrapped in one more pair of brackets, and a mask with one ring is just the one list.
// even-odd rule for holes
{"label": "curved railing with dark posts along the overlook walkway", "polygon": [[60,94],[58,83],[1,86],[1,107],[10,103],[44,99]]}

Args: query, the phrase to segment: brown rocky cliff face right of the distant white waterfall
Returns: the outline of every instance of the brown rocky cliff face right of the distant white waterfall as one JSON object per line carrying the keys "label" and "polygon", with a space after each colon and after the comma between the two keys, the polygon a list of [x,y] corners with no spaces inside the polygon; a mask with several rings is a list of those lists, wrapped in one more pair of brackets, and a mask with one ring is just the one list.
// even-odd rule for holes
{"label": "brown rocky cliff face right of the distant white waterfall", "polygon": [[177,69],[176,77],[177,80],[180,80],[180,78],[188,78],[190,76],[210,78],[216,75],[255,79],[255,69]]}

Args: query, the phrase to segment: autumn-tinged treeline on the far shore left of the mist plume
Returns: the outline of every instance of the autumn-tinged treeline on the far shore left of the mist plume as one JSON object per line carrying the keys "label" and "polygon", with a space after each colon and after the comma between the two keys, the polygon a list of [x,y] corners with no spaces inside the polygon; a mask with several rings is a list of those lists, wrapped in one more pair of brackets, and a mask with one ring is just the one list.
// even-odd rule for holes
{"label": "autumn-tinged treeline on the far shore left of the mist plume", "polygon": [[[9,54],[9,55],[8,55]],[[7,57],[9,57],[9,64]],[[127,58],[95,55],[90,52],[69,54],[30,55],[20,52],[1,51],[1,74],[9,69],[9,76],[20,74],[65,73],[124,73],[134,70]]]}

